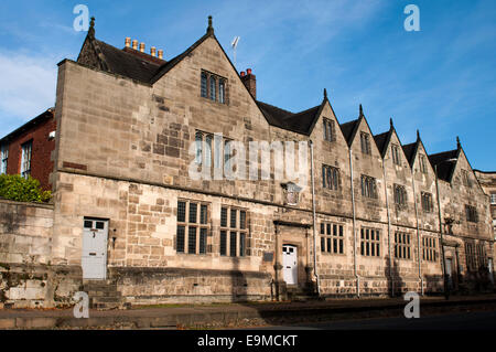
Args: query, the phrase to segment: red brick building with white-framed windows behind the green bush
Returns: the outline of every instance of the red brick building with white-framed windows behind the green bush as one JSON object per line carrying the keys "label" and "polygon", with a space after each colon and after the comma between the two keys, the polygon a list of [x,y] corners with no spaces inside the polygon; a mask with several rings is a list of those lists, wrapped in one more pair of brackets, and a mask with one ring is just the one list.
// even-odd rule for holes
{"label": "red brick building with white-framed windows behind the green bush", "polygon": [[51,190],[56,121],[53,108],[0,139],[0,173],[31,175]]}

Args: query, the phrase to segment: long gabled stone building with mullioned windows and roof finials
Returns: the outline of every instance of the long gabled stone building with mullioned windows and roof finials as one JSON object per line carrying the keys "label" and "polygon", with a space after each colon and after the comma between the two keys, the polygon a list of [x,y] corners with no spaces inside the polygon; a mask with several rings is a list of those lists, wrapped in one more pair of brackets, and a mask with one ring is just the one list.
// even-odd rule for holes
{"label": "long gabled stone building with mullioned windows and roof finials", "polygon": [[[82,285],[94,303],[119,305],[433,294],[443,271],[451,289],[475,287],[494,236],[460,142],[430,156],[419,134],[402,145],[392,120],[374,135],[362,106],[341,122],[325,90],[291,113],[259,102],[256,85],[212,19],[171,60],[99,41],[93,21],[77,61],[58,64],[45,263],[56,285],[42,305]],[[241,153],[236,142],[254,141],[272,148],[233,170],[255,166],[256,179],[215,177]]]}

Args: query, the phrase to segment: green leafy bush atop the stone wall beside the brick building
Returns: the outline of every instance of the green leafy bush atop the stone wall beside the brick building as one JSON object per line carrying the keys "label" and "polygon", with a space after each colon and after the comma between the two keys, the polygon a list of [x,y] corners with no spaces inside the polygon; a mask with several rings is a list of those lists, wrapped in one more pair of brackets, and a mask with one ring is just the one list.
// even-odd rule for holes
{"label": "green leafy bush atop the stone wall beside the brick building", "polygon": [[28,180],[19,174],[0,174],[0,198],[17,202],[46,203],[52,192],[43,191],[40,181],[33,178]]}

